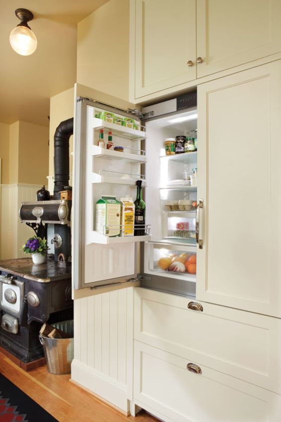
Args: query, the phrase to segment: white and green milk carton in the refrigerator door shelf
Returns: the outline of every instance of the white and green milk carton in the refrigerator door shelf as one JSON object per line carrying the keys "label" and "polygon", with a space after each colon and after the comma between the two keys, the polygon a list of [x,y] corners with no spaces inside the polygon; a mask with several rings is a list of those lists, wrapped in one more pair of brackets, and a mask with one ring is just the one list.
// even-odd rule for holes
{"label": "white and green milk carton in the refrigerator door shelf", "polygon": [[109,237],[120,236],[121,204],[116,197],[102,195],[96,203],[96,230]]}

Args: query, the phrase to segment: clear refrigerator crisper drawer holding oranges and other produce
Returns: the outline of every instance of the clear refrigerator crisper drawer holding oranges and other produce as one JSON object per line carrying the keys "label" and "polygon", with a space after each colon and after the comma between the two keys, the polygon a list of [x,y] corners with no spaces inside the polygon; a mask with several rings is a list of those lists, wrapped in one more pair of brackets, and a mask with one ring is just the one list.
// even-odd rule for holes
{"label": "clear refrigerator crisper drawer holding oranges and other produce", "polygon": [[182,244],[144,244],[144,272],[155,276],[196,282],[196,249]]}

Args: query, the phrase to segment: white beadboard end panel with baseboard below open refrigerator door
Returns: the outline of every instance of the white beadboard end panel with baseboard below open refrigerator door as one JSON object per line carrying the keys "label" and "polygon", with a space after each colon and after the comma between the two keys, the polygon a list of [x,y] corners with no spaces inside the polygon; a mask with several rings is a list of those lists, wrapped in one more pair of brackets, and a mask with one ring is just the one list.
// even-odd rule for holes
{"label": "white beadboard end panel with baseboard below open refrigerator door", "polygon": [[74,301],[71,378],[126,414],[133,400],[133,301],[133,287]]}

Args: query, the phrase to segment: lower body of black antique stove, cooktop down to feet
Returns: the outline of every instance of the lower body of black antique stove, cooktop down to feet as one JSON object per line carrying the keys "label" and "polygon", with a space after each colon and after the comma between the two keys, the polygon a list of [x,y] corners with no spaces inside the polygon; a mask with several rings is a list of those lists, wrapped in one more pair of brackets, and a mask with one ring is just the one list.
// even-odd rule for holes
{"label": "lower body of black antique stove, cooktop down to feet", "polygon": [[71,265],[0,261],[0,314],[0,346],[24,363],[43,357],[41,325],[73,318]]}

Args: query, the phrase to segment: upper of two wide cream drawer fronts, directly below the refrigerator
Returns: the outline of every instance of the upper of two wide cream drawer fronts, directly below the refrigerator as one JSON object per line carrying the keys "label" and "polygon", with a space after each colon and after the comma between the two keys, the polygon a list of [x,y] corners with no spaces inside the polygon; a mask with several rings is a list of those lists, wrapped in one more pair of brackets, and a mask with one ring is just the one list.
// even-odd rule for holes
{"label": "upper of two wide cream drawer fronts, directly below the refrigerator", "polygon": [[281,394],[281,320],[135,289],[136,340]]}

